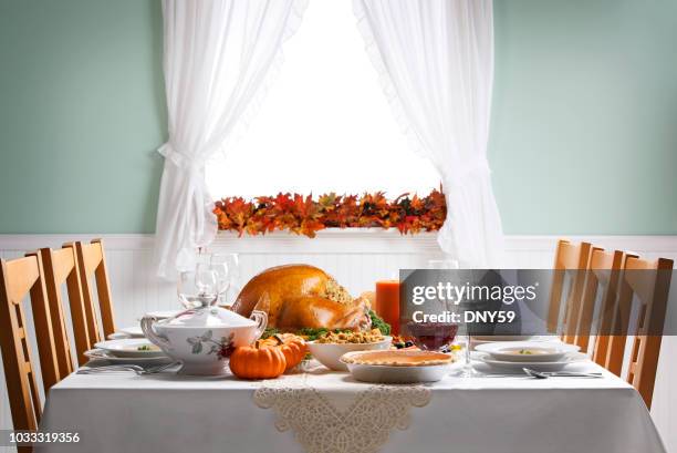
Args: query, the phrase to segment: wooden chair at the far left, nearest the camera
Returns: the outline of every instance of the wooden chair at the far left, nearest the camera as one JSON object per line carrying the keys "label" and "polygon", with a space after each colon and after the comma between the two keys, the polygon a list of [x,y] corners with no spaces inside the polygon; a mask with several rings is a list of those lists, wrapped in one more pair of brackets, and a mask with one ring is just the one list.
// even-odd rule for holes
{"label": "wooden chair at the far left, nearest the camera", "polygon": [[[52,319],[46,302],[42,261],[31,255],[0,260],[0,347],[14,430],[35,430],[42,409],[31,348],[27,338],[23,299],[30,294],[43,385],[59,380]],[[19,451],[29,452],[30,447]]]}

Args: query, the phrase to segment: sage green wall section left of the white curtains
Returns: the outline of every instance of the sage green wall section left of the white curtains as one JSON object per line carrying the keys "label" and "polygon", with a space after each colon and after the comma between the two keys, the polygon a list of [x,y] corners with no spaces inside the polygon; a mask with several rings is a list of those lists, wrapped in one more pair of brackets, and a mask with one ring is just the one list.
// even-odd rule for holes
{"label": "sage green wall section left of the white curtains", "polygon": [[157,0],[0,0],[0,233],[150,233]]}

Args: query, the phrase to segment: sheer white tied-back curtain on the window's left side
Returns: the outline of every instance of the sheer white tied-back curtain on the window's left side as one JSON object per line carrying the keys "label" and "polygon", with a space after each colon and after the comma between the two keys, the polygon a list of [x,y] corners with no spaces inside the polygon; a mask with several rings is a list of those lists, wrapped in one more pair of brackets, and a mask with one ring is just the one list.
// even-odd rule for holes
{"label": "sheer white tied-back curtain on the window's left side", "polygon": [[[164,0],[169,140],[156,227],[158,275],[190,268],[217,233],[205,163],[261,102],[308,0]],[[252,174],[256,169],[252,168]]]}

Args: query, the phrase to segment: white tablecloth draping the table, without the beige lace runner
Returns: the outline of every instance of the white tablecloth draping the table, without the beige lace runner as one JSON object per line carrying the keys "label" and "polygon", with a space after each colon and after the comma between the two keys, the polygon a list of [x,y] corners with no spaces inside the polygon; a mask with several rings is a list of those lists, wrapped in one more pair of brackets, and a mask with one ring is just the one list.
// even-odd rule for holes
{"label": "white tablecloth draping the table, without the beige lace runner", "polygon": [[[587,370],[602,370],[590,363]],[[284,378],[298,379],[298,377]],[[368,388],[343,373],[306,374],[327,398]],[[40,452],[302,452],[275,412],[253,402],[260,383],[175,374],[72,374],[51,391],[41,428],[79,432],[79,444]],[[384,452],[652,453],[665,452],[638,393],[603,379],[447,377],[428,385],[430,401],[410,409]]]}

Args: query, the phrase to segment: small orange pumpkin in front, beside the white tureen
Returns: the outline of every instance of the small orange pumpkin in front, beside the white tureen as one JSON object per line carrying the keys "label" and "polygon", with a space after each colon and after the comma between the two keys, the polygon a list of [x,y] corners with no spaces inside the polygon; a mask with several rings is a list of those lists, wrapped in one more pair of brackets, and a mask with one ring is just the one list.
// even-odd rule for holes
{"label": "small orange pumpkin in front, beside the white tureen", "polygon": [[261,341],[236,348],[230,356],[230,371],[240,379],[274,379],[285,368],[287,360],[282,350],[264,346]]}

